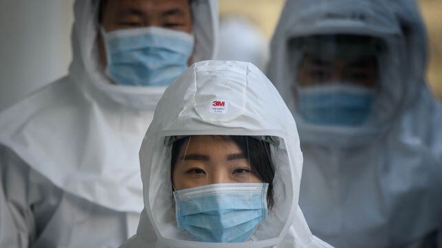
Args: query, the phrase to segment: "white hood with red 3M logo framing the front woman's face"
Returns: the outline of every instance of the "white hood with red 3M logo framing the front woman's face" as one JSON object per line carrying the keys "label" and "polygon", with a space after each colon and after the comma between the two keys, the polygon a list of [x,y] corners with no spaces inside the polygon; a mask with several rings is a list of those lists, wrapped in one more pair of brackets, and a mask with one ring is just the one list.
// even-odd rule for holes
{"label": "white hood with red 3M logo framing the front woman's face", "polygon": [[[210,111],[214,100],[223,113]],[[271,144],[274,208],[246,243],[201,243],[177,227],[170,181],[170,137],[252,135]],[[250,63],[202,61],[166,89],[140,150],[144,211],[122,247],[329,247],[309,231],[298,207],[302,153],[296,124],[271,82]]]}

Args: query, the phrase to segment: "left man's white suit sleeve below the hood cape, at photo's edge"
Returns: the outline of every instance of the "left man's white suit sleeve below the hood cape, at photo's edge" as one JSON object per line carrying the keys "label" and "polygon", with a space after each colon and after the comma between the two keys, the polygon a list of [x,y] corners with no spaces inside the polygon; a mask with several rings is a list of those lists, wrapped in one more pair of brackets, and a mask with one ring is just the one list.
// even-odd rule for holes
{"label": "left man's white suit sleeve below the hood cape, at photo's edge", "polygon": [[[48,199],[52,202],[50,207]],[[0,146],[1,248],[31,247],[38,238],[38,230],[43,229],[49,220],[47,214],[51,214],[59,200],[58,188],[32,170],[12,150]],[[41,205],[45,205],[45,210]],[[42,214],[44,212],[47,214]]]}

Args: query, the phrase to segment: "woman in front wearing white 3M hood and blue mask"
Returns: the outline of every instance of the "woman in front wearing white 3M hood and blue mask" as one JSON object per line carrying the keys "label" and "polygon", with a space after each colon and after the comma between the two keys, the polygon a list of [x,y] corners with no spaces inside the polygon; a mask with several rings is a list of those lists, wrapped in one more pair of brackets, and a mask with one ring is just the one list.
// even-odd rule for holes
{"label": "woman in front wearing white 3M hood and blue mask", "polygon": [[250,63],[195,63],[159,100],[142,148],[144,210],[121,247],[330,247],[298,207],[294,118]]}

